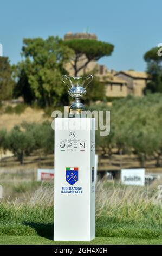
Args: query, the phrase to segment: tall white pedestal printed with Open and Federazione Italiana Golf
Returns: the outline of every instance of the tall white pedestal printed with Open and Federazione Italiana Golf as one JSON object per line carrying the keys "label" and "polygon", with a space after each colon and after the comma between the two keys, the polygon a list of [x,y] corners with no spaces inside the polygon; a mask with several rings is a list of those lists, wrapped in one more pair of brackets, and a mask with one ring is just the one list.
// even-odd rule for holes
{"label": "tall white pedestal printed with Open and Federazione Italiana Golf", "polygon": [[94,238],[95,119],[55,118],[54,240]]}

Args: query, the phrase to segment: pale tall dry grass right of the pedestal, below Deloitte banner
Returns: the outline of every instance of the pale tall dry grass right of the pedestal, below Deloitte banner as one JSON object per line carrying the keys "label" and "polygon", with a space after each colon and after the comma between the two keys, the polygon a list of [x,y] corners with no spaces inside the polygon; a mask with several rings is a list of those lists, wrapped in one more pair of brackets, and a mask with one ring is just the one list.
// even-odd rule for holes
{"label": "pale tall dry grass right of the pedestal, below Deloitte banner", "polygon": [[105,185],[101,181],[96,184],[96,217],[107,215],[133,221],[149,217],[159,218],[162,223],[162,196],[156,188],[123,186],[120,182],[117,186]]}

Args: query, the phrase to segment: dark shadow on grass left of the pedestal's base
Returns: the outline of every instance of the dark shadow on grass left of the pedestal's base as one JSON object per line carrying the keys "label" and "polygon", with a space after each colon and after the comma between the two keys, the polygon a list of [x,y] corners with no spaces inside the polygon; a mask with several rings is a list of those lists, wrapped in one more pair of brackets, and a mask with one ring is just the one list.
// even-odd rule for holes
{"label": "dark shadow on grass left of the pedestal's base", "polygon": [[35,229],[36,233],[44,238],[53,240],[54,235],[54,224],[44,224],[37,222],[24,222],[24,225]]}

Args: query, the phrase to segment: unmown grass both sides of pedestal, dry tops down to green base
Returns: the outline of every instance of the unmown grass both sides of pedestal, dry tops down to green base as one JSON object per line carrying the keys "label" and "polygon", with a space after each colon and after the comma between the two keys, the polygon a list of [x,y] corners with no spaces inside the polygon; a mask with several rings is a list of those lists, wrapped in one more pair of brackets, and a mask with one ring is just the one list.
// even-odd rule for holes
{"label": "unmown grass both sides of pedestal, dry tops down to green base", "polygon": [[[158,190],[99,181],[96,184],[96,236],[158,238],[162,207]],[[74,206],[75,207],[75,206]],[[0,235],[53,236],[54,185],[0,202]]]}

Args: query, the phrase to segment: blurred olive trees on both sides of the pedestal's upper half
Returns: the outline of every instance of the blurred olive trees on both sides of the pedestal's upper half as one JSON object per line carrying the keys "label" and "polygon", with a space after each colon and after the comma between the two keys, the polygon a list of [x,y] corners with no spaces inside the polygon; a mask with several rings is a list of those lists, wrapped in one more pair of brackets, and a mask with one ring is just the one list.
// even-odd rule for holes
{"label": "blurred olive trees on both sides of the pedestal's upper half", "polygon": [[[161,94],[150,94],[143,98],[128,96],[116,100],[113,106],[102,103],[92,105],[90,110],[111,111],[111,132],[109,136],[100,136],[96,131],[96,150],[99,155],[112,158],[113,149],[118,154],[137,155],[141,167],[146,160],[153,159],[156,166],[162,162],[162,97]],[[54,131],[51,124],[23,123],[11,131],[0,131],[0,148],[9,149],[23,163],[24,156],[33,151],[45,153],[54,151]]]}

